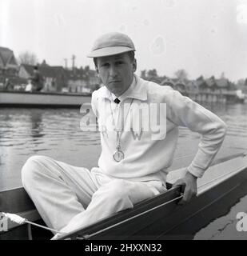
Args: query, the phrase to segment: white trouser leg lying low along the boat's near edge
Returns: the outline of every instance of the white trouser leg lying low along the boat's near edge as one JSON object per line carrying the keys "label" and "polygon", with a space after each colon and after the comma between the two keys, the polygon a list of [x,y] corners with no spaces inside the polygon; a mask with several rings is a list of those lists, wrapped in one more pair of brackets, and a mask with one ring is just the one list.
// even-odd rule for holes
{"label": "white trouser leg lying low along the boat's near edge", "polygon": [[[89,226],[101,218],[106,218],[120,210],[133,208],[137,202],[152,198],[159,194],[162,187],[161,182],[157,186],[148,186],[147,182],[129,182],[114,179],[102,185],[93,195],[90,205],[85,211],[77,214],[62,232],[70,232],[78,228]],[[150,185],[150,184],[149,184]],[[157,193],[155,192],[157,191]]]}

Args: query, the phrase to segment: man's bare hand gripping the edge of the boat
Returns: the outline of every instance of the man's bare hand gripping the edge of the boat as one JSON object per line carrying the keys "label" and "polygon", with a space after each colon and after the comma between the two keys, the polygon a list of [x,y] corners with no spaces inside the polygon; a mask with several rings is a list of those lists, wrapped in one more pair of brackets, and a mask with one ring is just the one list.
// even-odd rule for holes
{"label": "man's bare hand gripping the edge of the boat", "polygon": [[173,184],[174,186],[185,185],[185,191],[183,198],[178,202],[178,205],[183,205],[189,202],[191,198],[197,195],[197,177],[190,174],[189,171],[186,172],[185,177],[178,179],[177,182]]}

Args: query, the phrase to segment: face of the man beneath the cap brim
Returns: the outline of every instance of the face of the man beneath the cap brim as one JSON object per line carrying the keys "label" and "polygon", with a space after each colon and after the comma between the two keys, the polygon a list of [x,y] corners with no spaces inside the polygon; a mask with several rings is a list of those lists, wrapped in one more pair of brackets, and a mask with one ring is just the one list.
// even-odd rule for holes
{"label": "face of the man beneath the cap brim", "polygon": [[136,60],[131,61],[127,53],[97,58],[96,70],[103,84],[117,97],[129,88],[136,69]]}

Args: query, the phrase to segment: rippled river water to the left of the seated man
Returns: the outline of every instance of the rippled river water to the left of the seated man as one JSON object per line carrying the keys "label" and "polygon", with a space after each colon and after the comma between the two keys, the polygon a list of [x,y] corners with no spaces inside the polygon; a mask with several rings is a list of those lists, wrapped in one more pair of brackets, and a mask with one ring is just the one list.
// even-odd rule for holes
{"label": "rippled river water to the left of the seated man", "polygon": [[82,132],[79,110],[0,110],[0,189],[22,186],[20,170],[31,155],[43,154],[91,168],[100,154],[99,134]]}

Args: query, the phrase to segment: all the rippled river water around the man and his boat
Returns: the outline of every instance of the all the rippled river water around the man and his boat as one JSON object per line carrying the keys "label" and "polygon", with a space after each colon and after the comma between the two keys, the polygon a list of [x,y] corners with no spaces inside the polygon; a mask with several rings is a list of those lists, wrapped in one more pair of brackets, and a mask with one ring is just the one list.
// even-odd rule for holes
{"label": "all the rippled river water around the man and his boat", "polygon": [[[206,106],[228,125],[228,132],[217,158],[247,151],[247,104]],[[98,132],[82,132],[79,110],[0,109],[0,190],[22,186],[20,172],[27,158],[47,155],[74,166],[97,166],[101,151]],[[180,129],[173,166],[188,166],[197,152],[199,134]],[[195,239],[247,239],[247,232],[236,231],[236,214],[247,212],[247,195],[200,230]]]}

